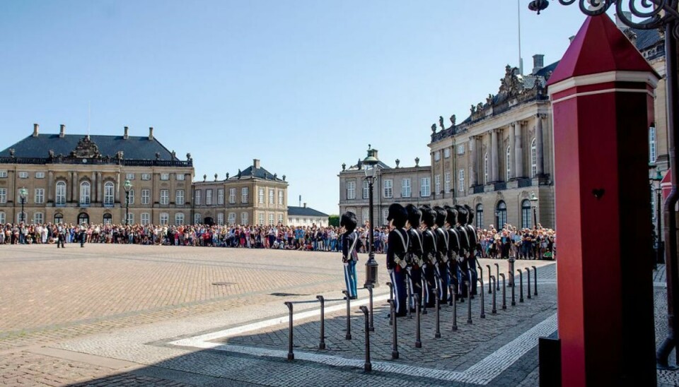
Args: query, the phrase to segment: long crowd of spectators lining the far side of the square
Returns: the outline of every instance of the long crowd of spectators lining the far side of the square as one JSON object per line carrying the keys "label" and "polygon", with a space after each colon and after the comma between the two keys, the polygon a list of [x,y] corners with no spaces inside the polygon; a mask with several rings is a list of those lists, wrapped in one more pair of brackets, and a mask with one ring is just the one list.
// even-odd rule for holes
{"label": "long crowd of spectators lining the far side of the square", "polygon": [[[340,251],[340,227],[291,227],[251,225],[73,225],[7,224],[0,228],[0,244],[55,244],[59,233],[66,244],[113,243],[166,246],[217,246],[255,249],[294,249],[303,251]],[[368,225],[359,227],[361,251],[367,252]],[[386,252],[388,227],[376,227],[373,250]],[[554,230],[517,229],[493,225],[477,230],[477,256],[484,258],[552,259],[555,254]]]}

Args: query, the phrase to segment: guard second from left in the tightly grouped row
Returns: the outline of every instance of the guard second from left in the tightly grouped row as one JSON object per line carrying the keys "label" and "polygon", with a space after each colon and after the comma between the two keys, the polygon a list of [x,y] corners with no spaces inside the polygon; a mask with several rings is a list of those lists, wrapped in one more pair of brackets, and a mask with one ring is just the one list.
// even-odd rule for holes
{"label": "guard second from left in the tightly grouped row", "polygon": [[[408,239],[410,239],[408,254],[406,255],[406,261],[408,263],[407,280],[410,285],[412,297],[419,297],[419,299],[422,299],[422,266],[424,265],[422,256],[424,245],[422,242],[422,231],[419,230],[419,222],[422,221],[422,211],[412,204],[405,206],[405,210],[408,213],[407,231]],[[414,310],[414,298],[409,299],[408,304],[410,309]]]}

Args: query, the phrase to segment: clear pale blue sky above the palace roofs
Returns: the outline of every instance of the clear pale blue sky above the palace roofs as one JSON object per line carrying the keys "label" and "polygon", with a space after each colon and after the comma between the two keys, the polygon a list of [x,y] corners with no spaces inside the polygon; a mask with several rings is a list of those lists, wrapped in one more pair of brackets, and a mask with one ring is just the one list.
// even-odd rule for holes
{"label": "clear pale blue sky above the palace roofs", "polygon": [[[584,16],[521,0],[524,72],[560,59]],[[368,143],[429,165],[430,126],[518,65],[516,0],[0,2],[0,149],[41,133],[154,136],[195,179],[253,158],[289,204],[338,213],[342,162]]]}

